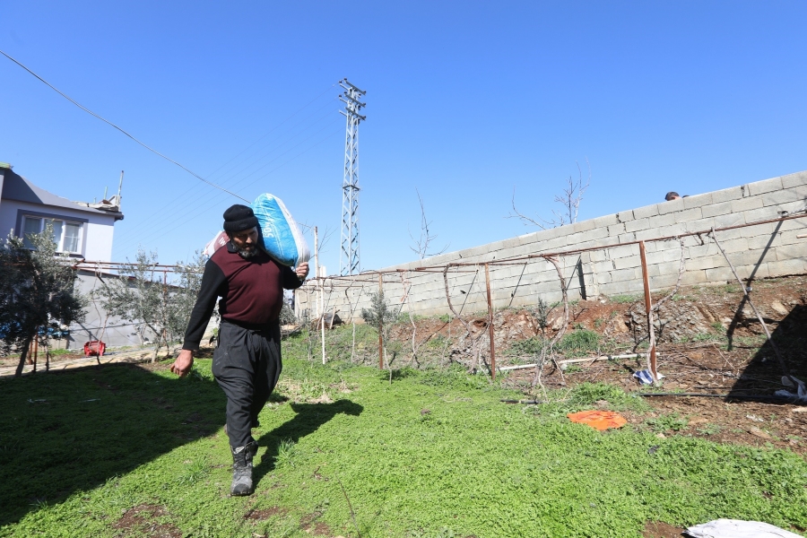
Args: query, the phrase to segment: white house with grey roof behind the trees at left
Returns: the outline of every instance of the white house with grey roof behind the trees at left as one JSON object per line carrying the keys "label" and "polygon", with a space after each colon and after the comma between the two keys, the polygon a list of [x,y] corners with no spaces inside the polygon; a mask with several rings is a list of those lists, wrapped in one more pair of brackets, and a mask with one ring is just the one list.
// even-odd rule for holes
{"label": "white house with grey roof behind the trees at left", "polygon": [[[71,202],[37,187],[11,165],[0,162],[0,238],[9,233],[22,238],[39,233],[50,221],[59,251],[76,260],[110,262],[115,223],[123,218],[117,195],[100,203]],[[89,293],[103,276],[79,271],[77,286]],[[91,305],[84,321],[72,325],[70,336],[61,344],[74,348],[98,339],[107,345],[141,343],[136,326],[108,317],[98,305]]]}

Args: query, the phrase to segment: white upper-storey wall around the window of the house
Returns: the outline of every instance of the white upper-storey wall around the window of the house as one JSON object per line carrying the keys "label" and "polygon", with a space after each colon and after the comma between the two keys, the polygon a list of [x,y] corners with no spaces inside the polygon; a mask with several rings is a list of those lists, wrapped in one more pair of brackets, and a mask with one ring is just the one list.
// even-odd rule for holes
{"label": "white upper-storey wall around the window of the house", "polygon": [[18,215],[21,210],[23,212],[48,213],[65,217],[65,219],[74,218],[78,221],[86,221],[82,230],[82,256],[92,261],[112,261],[112,239],[115,230],[114,217],[71,210],[65,207],[3,200],[2,204],[0,204],[0,237],[7,237],[11,230],[15,230],[15,233],[19,234]]}

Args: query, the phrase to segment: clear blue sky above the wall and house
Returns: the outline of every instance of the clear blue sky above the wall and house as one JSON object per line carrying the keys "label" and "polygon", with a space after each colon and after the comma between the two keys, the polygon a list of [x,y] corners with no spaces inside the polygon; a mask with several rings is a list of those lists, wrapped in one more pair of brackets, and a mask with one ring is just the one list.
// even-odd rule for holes
{"label": "clear blue sky above the wall and house", "polygon": [[[551,216],[576,161],[579,219],[807,169],[803,2],[9,2],[0,49],[144,143],[328,229],[339,269],[343,77],[360,126],[362,268]],[[238,202],[0,57],[0,161],[74,200],[117,188],[113,256],[185,260]]]}

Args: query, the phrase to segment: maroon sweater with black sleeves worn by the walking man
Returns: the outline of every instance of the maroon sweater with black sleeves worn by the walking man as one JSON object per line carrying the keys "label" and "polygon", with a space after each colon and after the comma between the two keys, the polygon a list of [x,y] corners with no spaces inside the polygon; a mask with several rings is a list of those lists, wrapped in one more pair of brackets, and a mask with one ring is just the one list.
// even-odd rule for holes
{"label": "maroon sweater with black sleeves worn by the walking man", "polygon": [[196,296],[182,349],[195,351],[213,315],[216,299],[221,319],[249,329],[265,329],[278,322],[283,289],[299,288],[297,273],[275,262],[263,250],[244,259],[228,242],[207,260],[202,287]]}

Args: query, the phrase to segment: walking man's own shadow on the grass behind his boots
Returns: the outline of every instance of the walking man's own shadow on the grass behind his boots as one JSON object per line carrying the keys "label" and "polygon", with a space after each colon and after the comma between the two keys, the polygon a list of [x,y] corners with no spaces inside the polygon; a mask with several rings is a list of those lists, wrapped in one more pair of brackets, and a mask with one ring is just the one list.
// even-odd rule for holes
{"label": "walking man's own shadow on the grass behind his boots", "polygon": [[297,413],[291,421],[265,433],[258,439],[258,445],[267,447],[267,449],[260,458],[260,463],[255,466],[256,482],[274,470],[278,447],[283,439],[291,439],[293,443],[297,443],[300,438],[314,433],[339,413],[359,416],[364,411],[364,407],[350,400],[337,400],[333,404],[291,404],[291,409]]}

